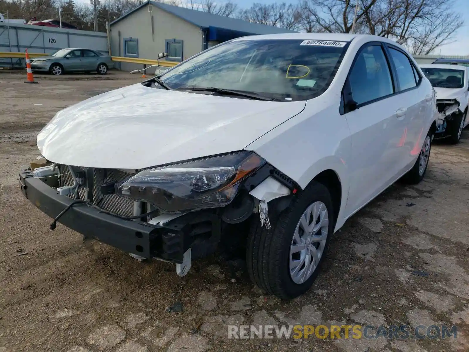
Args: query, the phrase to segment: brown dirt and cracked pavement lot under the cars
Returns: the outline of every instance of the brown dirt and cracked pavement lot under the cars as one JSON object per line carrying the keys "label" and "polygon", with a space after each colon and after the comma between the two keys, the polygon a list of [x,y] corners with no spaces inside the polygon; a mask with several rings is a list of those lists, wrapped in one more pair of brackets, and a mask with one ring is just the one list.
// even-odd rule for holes
{"label": "brown dirt and cracked pavement lot under the cars", "polygon": [[[350,219],[313,289],[282,302],[218,256],[180,278],[169,263],[49,230],[17,181],[39,154],[37,132],[59,109],[139,76],[35,78],[0,72],[0,352],[469,351],[468,130],[457,146],[434,145],[423,183],[396,184]],[[182,312],[166,311],[178,301]],[[457,337],[227,338],[227,324],[297,323],[456,324]]]}

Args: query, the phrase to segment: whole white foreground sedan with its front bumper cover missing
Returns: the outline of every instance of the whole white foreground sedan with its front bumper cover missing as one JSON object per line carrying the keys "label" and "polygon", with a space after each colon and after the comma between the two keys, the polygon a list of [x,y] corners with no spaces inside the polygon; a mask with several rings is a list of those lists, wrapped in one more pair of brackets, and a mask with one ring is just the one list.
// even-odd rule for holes
{"label": "whole white foreground sedan with its front bumper cover missing", "polygon": [[423,179],[437,115],[430,82],[386,38],[237,38],[58,112],[37,138],[50,164],[20,185],[52,229],[181,276],[239,236],[252,281],[294,298],[352,214]]}

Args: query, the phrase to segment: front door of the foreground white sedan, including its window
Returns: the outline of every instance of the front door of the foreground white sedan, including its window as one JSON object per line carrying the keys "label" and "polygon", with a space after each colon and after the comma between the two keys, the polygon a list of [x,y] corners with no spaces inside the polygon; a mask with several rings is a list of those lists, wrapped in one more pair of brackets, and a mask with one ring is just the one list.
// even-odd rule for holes
{"label": "front door of the foreground white sedan, including its window", "polygon": [[[405,125],[396,117],[400,106],[392,69],[381,42],[368,43],[356,54],[342,99],[351,132],[347,214],[378,195],[398,173],[399,143]],[[348,102],[356,103],[348,108]]]}

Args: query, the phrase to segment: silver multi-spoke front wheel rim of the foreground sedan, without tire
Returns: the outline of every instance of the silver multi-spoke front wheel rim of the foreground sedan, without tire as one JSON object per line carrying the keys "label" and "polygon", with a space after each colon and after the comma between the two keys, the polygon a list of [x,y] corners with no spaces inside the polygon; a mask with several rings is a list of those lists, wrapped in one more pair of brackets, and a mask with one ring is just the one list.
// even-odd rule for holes
{"label": "silver multi-spoke front wheel rim of the foreground sedan, without tire", "polygon": [[290,245],[290,277],[294,283],[307,281],[318,268],[329,229],[329,214],[323,202],[312,203],[296,224]]}

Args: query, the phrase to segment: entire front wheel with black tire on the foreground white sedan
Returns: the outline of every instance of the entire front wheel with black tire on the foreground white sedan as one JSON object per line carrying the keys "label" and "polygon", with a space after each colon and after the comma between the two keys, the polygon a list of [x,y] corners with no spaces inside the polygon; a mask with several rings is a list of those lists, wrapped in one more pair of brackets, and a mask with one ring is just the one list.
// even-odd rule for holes
{"label": "entire front wheel with black tire on the foreground white sedan", "polygon": [[[272,213],[272,212],[271,212]],[[263,291],[292,299],[308,291],[319,274],[335,222],[331,195],[312,181],[290,206],[260,227],[254,217],[248,236],[247,266],[251,280]]]}

